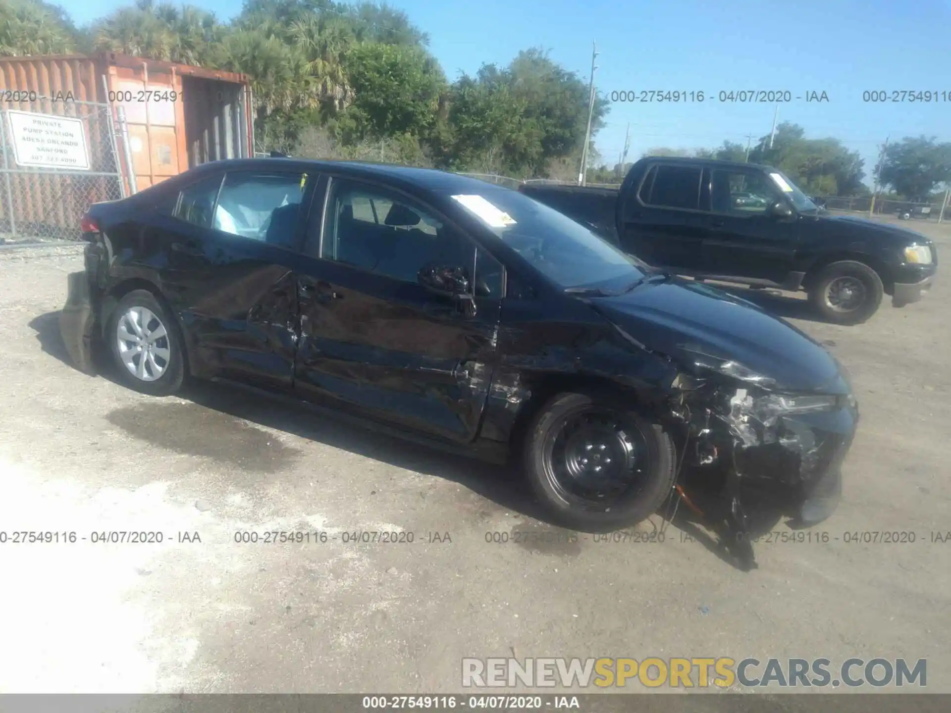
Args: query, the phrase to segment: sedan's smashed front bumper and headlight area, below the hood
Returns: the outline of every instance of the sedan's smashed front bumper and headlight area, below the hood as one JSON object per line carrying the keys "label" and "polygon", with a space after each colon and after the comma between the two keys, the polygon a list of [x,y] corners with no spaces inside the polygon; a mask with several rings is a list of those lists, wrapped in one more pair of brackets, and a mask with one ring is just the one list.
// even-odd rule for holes
{"label": "sedan's smashed front bumper and headlight area, below the hood", "polygon": [[[841,367],[823,388],[794,391],[730,359],[689,359],[671,384],[671,414],[687,434],[682,462],[694,469],[694,483],[716,484],[726,508],[701,514],[723,525],[723,546],[753,568],[750,504],[790,518],[792,528],[835,511],[858,403]],[[689,502],[680,483],[677,492]]]}

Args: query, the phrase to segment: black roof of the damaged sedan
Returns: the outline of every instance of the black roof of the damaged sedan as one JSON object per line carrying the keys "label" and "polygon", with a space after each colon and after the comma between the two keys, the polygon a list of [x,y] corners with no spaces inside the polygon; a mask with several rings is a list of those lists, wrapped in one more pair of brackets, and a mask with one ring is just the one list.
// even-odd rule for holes
{"label": "black roof of the damaged sedan", "polygon": [[343,173],[354,177],[386,178],[392,182],[404,183],[434,191],[450,191],[453,193],[472,193],[484,191],[486,188],[503,188],[493,183],[486,183],[469,176],[460,176],[457,173],[439,171],[435,168],[416,168],[398,164],[370,164],[361,161],[321,161],[318,159],[295,158],[266,158],[266,159],[227,159],[201,164],[191,169],[194,172],[215,170],[255,170],[267,168],[293,168],[306,171],[311,168],[315,171],[328,173]]}

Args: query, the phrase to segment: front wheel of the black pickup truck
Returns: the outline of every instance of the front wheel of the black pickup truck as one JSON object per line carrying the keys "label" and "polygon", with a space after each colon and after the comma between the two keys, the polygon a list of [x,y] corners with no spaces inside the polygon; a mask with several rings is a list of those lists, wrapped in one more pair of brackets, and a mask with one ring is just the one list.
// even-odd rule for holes
{"label": "front wheel of the black pickup truck", "polygon": [[864,262],[841,260],[822,268],[812,280],[809,300],[835,324],[861,324],[882,304],[882,278]]}

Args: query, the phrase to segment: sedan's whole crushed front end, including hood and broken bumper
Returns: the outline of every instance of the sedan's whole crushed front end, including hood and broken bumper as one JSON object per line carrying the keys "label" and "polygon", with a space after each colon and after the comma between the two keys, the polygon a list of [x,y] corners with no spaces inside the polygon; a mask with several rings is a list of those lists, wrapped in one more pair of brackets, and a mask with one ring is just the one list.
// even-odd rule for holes
{"label": "sedan's whole crushed front end, including hood and broken bumper", "polygon": [[590,303],[637,353],[632,365],[666,375],[650,410],[681,435],[671,505],[755,567],[764,522],[809,527],[838,505],[859,421],[849,378],[821,344],[745,299],[671,276],[640,284]]}

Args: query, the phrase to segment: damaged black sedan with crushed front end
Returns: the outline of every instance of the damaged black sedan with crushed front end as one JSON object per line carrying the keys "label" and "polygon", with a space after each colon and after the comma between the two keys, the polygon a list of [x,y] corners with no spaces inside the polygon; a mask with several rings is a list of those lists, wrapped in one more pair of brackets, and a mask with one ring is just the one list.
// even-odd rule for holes
{"label": "damaged black sedan with crushed front end", "polygon": [[[847,377],[785,321],[657,272],[518,192],[439,171],[204,164],[83,221],[61,318],[134,389],[215,379],[494,462],[612,530],[708,472],[736,531],[768,491],[834,510]],[[706,470],[705,470],[706,469]]]}

